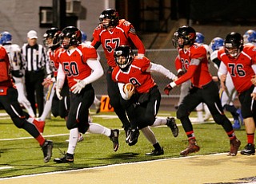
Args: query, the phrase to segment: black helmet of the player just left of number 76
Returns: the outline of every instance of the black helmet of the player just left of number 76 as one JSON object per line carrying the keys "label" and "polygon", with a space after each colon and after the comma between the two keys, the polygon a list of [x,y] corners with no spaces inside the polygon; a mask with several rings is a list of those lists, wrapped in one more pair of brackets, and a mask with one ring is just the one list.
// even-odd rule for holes
{"label": "black helmet of the player just left of number 76", "polygon": [[[178,38],[182,38],[183,42],[179,42]],[[188,25],[183,25],[174,32],[172,41],[175,48],[183,48],[184,45],[193,45],[195,38],[195,30]]]}

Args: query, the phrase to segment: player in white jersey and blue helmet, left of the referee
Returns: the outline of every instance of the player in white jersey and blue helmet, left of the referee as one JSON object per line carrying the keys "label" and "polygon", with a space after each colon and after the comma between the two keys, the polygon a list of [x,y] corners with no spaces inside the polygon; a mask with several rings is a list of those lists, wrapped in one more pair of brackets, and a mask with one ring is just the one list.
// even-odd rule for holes
{"label": "player in white jersey and blue helmet, left of the referee", "polygon": [[22,68],[22,53],[17,44],[12,43],[12,35],[4,31],[0,33],[0,44],[3,45],[8,53],[10,60],[11,74],[14,79],[15,86],[18,90],[18,102],[22,104],[31,117],[35,117],[30,101],[26,98],[26,90],[24,88],[24,69]]}

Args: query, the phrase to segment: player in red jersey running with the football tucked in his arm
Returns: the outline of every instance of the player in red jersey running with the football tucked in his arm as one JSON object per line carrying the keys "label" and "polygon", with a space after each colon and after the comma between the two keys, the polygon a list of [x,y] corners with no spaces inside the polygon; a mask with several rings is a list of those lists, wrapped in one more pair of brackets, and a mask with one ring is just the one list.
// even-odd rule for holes
{"label": "player in red jersey running with the football tucked in his arm", "polygon": [[[149,126],[167,125],[170,127],[174,137],[178,136],[178,127],[173,117],[168,117],[167,119],[156,117],[160,106],[161,94],[150,72],[162,73],[170,80],[175,80],[176,76],[162,65],[150,62],[146,57],[134,57],[128,45],[117,47],[114,50],[114,57],[118,67],[114,68],[112,78],[115,82],[118,82],[122,105],[125,107],[131,123],[128,144],[132,146],[137,143],[139,134],[138,131],[136,132],[136,127],[138,126],[138,129],[143,132],[146,139],[154,147],[154,151],[146,155],[162,155],[163,148],[160,147]],[[123,90],[123,88],[126,88],[125,84],[129,83],[133,84],[135,91],[126,92],[126,90]]]}

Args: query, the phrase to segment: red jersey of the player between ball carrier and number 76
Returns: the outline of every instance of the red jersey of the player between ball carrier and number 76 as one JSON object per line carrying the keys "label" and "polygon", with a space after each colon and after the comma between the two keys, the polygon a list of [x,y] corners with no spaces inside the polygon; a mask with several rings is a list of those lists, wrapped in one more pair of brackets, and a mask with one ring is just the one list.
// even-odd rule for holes
{"label": "red jersey of the player between ball carrier and number 76", "polygon": [[186,80],[191,80],[195,87],[202,88],[202,86],[210,83],[212,76],[208,69],[208,60],[204,46],[195,43],[186,52],[184,49],[178,49],[178,57],[184,65],[186,73],[179,77],[175,84],[179,85]]}

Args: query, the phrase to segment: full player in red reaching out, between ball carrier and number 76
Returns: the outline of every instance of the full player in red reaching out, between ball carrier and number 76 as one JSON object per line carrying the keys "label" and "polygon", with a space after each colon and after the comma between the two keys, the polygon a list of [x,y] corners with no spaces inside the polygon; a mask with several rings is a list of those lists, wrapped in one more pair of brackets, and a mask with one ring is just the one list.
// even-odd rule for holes
{"label": "full player in red reaching out, between ball carrier and number 76", "polygon": [[195,43],[195,37],[195,30],[187,25],[178,28],[174,33],[173,44],[178,48],[178,57],[187,63],[188,69],[178,80],[171,82],[165,88],[166,95],[169,95],[172,88],[186,80],[191,80],[190,92],[184,97],[177,111],[177,118],[181,120],[182,127],[189,140],[188,147],[180,155],[186,156],[200,149],[196,143],[189,115],[198,104],[203,102],[208,106],[214,121],[222,125],[226,131],[230,138],[229,155],[235,156],[238,153],[241,142],[236,138],[232,124],[223,112],[218,96],[218,86],[214,83],[208,69],[206,49],[202,45]]}

